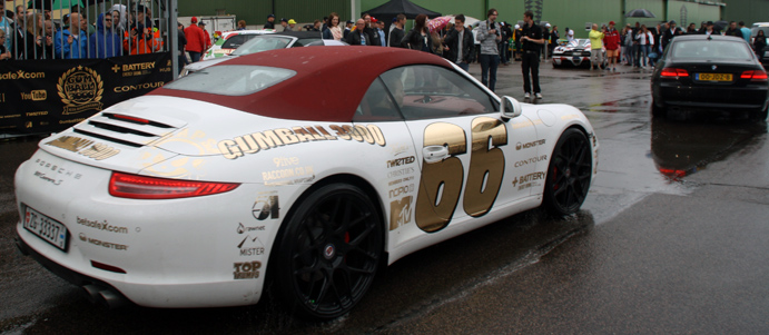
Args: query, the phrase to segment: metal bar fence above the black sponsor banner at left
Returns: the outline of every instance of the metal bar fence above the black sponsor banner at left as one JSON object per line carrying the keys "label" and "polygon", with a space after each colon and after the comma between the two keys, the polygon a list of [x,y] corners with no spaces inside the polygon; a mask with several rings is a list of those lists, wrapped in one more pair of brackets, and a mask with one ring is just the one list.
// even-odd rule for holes
{"label": "metal bar fence above the black sponsor banner at left", "polygon": [[[174,71],[178,72],[177,0],[24,2],[26,11],[16,13],[12,21],[6,18],[10,28],[6,47],[11,59],[108,58],[171,51]],[[65,2],[78,4],[63,7]],[[58,18],[53,19],[55,14]]]}

